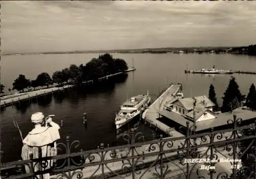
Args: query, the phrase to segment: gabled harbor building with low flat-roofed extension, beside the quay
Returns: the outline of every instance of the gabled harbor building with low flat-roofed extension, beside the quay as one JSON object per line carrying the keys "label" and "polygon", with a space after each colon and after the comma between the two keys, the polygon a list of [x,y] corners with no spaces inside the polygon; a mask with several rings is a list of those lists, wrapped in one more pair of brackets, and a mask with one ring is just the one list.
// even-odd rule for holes
{"label": "gabled harbor building with low flat-roofed extension, beside the quay", "polygon": [[215,104],[205,95],[189,98],[174,97],[164,106],[164,110],[159,112],[158,120],[174,127],[182,134],[187,122],[189,126],[193,124],[197,126],[196,133],[204,133],[209,132],[211,127],[214,130],[230,129],[228,120],[233,120],[233,115],[243,119],[241,125],[248,125],[256,120],[256,111],[241,107],[232,112],[216,113],[212,111],[214,106]]}

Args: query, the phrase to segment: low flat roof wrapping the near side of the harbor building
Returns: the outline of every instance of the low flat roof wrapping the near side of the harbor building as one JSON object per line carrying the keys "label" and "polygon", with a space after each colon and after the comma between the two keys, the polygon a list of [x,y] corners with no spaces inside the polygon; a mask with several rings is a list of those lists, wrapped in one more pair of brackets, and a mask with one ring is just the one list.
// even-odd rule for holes
{"label": "low flat roof wrapping the near side of the harbor building", "polygon": [[[168,119],[171,119],[183,126],[186,126],[186,122],[189,122],[189,126],[193,125],[193,122],[184,118],[183,116],[176,114],[175,112],[170,112],[167,110],[160,111],[160,114]],[[226,125],[229,119],[233,120],[233,115],[236,114],[238,118],[242,118],[243,120],[256,119],[256,111],[251,110],[243,110],[241,108],[233,110],[232,113],[221,113],[214,119],[208,119],[196,122],[197,129],[196,131],[202,131],[209,129],[210,127],[218,127],[222,125]]]}

